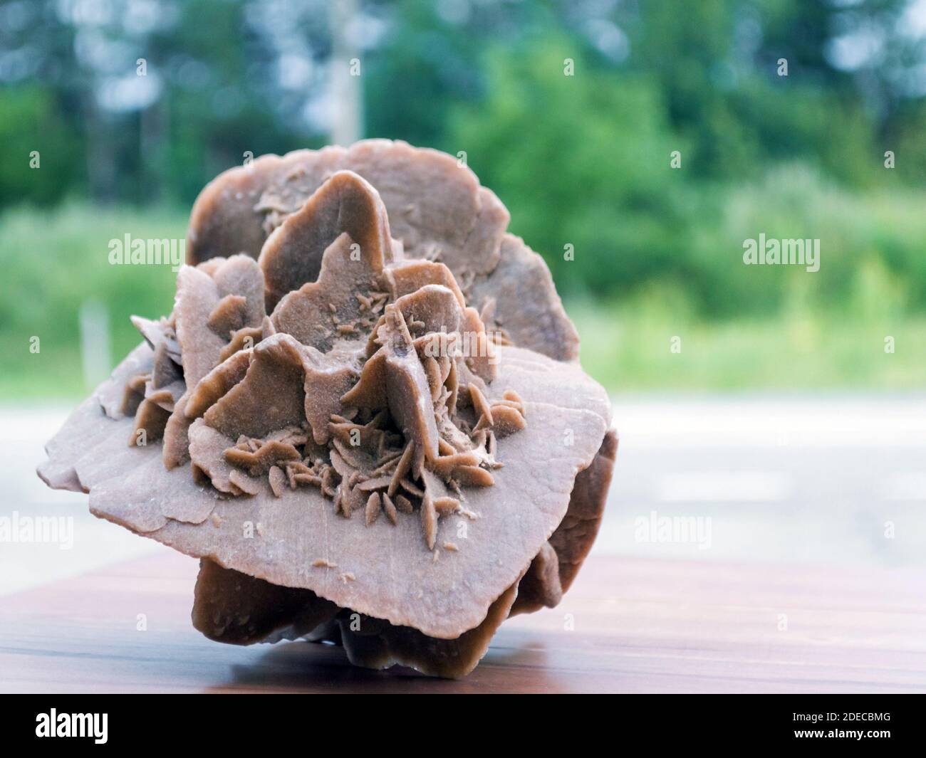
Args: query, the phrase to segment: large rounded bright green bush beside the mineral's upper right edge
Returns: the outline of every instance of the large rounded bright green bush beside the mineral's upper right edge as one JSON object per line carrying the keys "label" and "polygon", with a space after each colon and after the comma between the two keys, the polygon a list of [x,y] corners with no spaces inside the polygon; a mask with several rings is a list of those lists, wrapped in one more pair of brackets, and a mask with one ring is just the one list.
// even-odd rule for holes
{"label": "large rounded bright green bush beside the mineral's upper right edge", "polygon": [[681,275],[685,174],[670,168],[670,154],[684,161],[685,144],[644,77],[614,86],[580,51],[564,37],[495,49],[488,97],[452,112],[445,147],[467,152],[511,210],[511,230],[546,255],[557,286],[624,292],[657,273]]}

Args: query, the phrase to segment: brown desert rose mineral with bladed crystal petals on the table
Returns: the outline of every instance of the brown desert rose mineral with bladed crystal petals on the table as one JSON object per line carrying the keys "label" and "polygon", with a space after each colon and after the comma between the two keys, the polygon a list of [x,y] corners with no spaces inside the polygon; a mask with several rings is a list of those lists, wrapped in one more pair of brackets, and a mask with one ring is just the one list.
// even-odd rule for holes
{"label": "brown desert rose mineral with bladed crystal petals on the table", "polygon": [[556,605],[617,451],[543,259],[449,155],[265,155],[194,205],[173,312],[48,443],[49,486],[201,559],[194,626],[459,677]]}

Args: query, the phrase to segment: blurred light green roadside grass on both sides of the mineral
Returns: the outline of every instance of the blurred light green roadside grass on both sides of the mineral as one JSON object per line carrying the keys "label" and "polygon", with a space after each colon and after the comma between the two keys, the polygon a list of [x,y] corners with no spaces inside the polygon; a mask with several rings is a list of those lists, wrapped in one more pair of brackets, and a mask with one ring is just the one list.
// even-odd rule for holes
{"label": "blurred light green roadside grass on both sides of the mineral", "polygon": [[[129,316],[169,313],[175,273],[163,265],[112,266],[108,243],[126,233],[181,239],[185,227],[186,214],[169,209],[21,207],[0,217],[0,400],[73,398],[88,389],[78,325],[85,301],[106,309],[113,364],[128,353],[140,339]],[[821,305],[814,278],[824,276],[826,265],[824,252],[820,274],[765,269],[766,276],[794,282],[786,304],[766,317],[704,317],[685,290],[670,283],[620,303],[573,298],[566,305],[582,335],[582,365],[609,391],[926,386],[926,316],[903,306],[905,287],[872,256],[854,270],[850,296]],[[739,263],[732,276],[742,268]],[[38,354],[30,352],[32,336],[41,340]],[[894,354],[884,351],[888,336]],[[677,353],[673,337],[681,338]]]}

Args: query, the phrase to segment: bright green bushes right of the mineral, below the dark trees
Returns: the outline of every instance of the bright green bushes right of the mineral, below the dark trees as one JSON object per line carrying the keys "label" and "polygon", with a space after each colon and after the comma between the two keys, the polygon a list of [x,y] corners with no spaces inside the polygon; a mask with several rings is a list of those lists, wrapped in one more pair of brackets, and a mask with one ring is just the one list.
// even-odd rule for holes
{"label": "bright green bushes right of the mineral, below the dark trees", "polygon": [[[546,255],[562,292],[626,297],[661,284],[707,316],[755,316],[795,297],[845,309],[856,303],[859,280],[877,271],[893,283],[888,292],[899,299],[892,306],[926,308],[926,192],[881,179],[893,175],[873,149],[853,146],[851,120],[842,137],[833,132],[831,143],[848,141],[834,153],[862,155],[857,175],[878,181],[850,182],[846,172],[837,178],[822,149],[819,160],[752,157],[740,171],[725,169],[721,181],[673,135],[659,90],[644,75],[619,88],[608,87],[602,71],[583,71],[582,62],[575,77],[553,75],[568,50],[550,39],[522,54],[494,51],[489,96],[458,108],[444,143],[449,152],[467,151],[469,165],[511,210],[511,230]],[[808,131],[822,118],[820,107],[789,118],[806,119]],[[526,128],[538,113],[537,127]],[[829,118],[832,128],[832,118],[843,116]],[[822,148],[822,130],[812,128]],[[807,136],[797,142],[809,150]],[[755,150],[770,144],[762,140]],[[681,168],[671,168],[674,150]],[[743,242],[760,233],[819,239],[820,272],[744,266]],[[566,244],[574,260],[564,258]]]}

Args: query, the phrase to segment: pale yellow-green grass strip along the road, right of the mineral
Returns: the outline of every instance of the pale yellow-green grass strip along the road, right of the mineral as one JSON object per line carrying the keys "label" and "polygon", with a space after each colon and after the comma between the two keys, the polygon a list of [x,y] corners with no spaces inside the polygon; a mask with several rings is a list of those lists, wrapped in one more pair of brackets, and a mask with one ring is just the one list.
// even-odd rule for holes
{"label": "pale yellow-green grass strip along the road, right of the mineral", "polygon": [[[632,304],[581,304],[569,314],[582,337],[582,367],[610,391],[926,387],[926,317],[866,321],[807,312],[706,322]],[[888,336],[893,354],[884,350]],[[673,353],[675,337],[680,350]]]}

